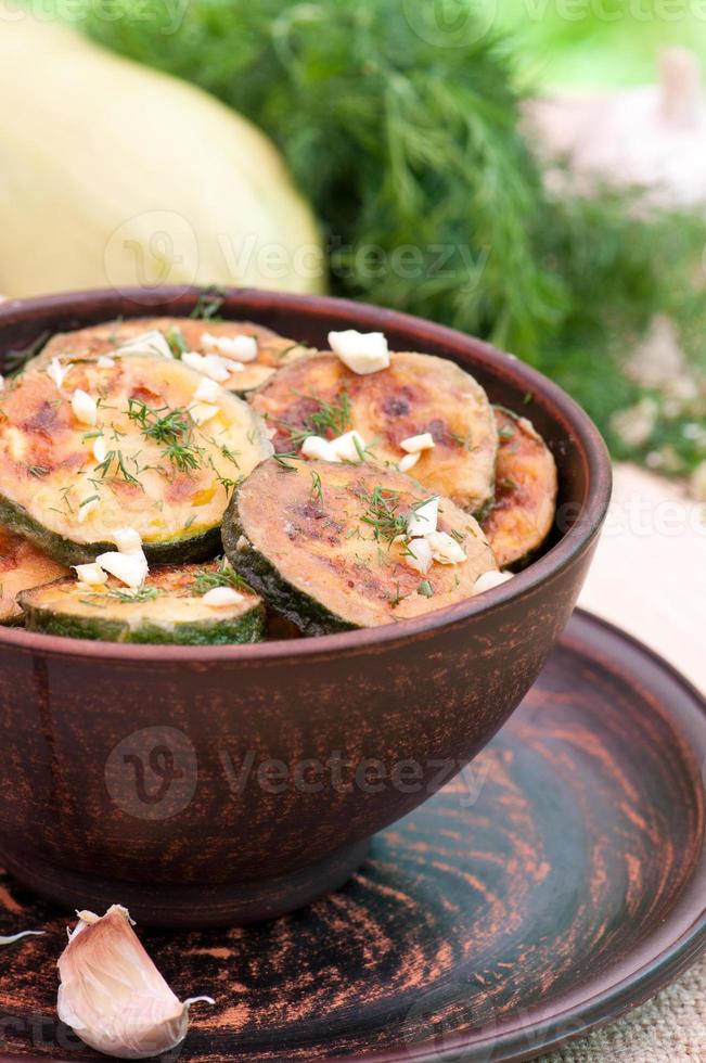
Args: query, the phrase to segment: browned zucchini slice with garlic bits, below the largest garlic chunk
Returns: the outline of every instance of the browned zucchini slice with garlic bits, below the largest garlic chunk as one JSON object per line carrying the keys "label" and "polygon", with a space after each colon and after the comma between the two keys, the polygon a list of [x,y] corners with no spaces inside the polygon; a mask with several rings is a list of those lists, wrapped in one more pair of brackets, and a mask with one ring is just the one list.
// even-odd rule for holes
{"label": "browned zucchini slice with garlic bits, below the largest garlic chunk", "polygon": [[296,450],[307,435],[331,439],[356,428],[369,462],[396,468],[405,457],[400,443],[428,432],[435,446],[410,475],[472,513],[492,499],[492,409],[473,376],[447,359],[393,354],[389,369],[359,376],[335,355],[310,355],[280,370],[252,404],[277,430],[278,452]]}

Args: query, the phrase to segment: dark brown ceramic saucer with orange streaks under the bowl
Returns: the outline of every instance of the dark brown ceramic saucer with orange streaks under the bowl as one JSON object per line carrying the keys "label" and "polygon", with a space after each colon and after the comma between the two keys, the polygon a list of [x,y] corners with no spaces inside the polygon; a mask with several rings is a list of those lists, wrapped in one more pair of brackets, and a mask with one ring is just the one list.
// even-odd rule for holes
{"label": "dark brown ceramic saucer with orange streaks under the bowl", "polygon": [[[181,1059],[531,1059],[615,1019],[706,944],[706,704],[577,614],[490,746],[377,836],[338,893],[277,922],[144,934],[194,1012]],[[119,900],[119,898],[115,898]],[[57,1028],[65,913],[9,880],[0,1060],[98,1056]]]}

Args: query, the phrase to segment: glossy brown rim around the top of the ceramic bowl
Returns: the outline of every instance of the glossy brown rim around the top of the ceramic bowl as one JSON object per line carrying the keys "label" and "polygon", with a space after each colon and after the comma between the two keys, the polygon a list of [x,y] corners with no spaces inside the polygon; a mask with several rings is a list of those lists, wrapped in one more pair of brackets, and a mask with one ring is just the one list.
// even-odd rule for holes
{"label": "glossy brown rim around the top of the ceramic bowl", "polygon": [[[91,289],[8,299],[0,304],[0,334],[3,326],[12,324],[15,320],[38,318],[38,323],[41,323],[42,318],[51,317],[60,310],[87,315],[97,306],[115,304],[116,316],[119,316],[120,311],[125,311],[126,302],[131,302],[137,311],[134,315],[130,313],[130,317],[144,317],[157,308],[165,315],[182,317],[193,308],[205,291],[211,290],[187,285],[150,290],[126,286],[119,290]],[[587,498],[575,523],[568,532],[564,533],[559,542],[537,561],[517,573],[513,579],[477,599],[466,599],[454,605],[381,627],[361,628],[308,639],[222,646],[182,646],[98,642],[0,626],[0,646],[16,646],[18,650],[34,650],[61,657],[92,657],[154,664],[232,662],[243,665],[292,658],[317,658],[333,653],[355,654],[373,645],[387,645],[437,635],[440,629],[453,628],[482,612],[495,612],[512,600],[523,598],[540,585],[552,584],[598,536],[607,512],[612,487],[611,459],[605,443],[589,415],[566,392],[516,356],[447,325],[351,299],[248,287],[219,286],[219,292],[226,298],[228,316],[235,316],[241,312],[241,308],[247,317],[256,317],[258,311],[268,313],[273,309],[285,315],[305,310],[312,320],[317,317],[325,318],[332,328],[343,324],[348,328],[362,326],[361,331],[414,330],[418,334],[418,345],[423,347],[428,343],[433,346],[441,345],[455,349],[470,356],[477,366],[487,369],[489,375],[525,387],[526,392],[531,394],[532,400],[539,400],[577,445],[588,489]],[[165,307],[167,304],[168,307]],[[439,357],[453,360],[450,355]]]}

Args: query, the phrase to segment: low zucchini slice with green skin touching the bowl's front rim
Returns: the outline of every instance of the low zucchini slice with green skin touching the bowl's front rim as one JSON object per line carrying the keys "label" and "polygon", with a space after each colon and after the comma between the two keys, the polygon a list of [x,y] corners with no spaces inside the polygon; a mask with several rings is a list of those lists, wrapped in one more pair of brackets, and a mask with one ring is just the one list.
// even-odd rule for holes
{"label": "low zucchini slice with green skin touching the bowl's front rim", "polygon": [[[204,594],[214,587],[232,587],[241,600],[208,605]],[[266,628],[262,600],[216,561],[156,568],[139,591],[113,578],[102,587],[57,579],[23,591],[20,604],[30,631],[102,642],[224,645],[259,642]]]}

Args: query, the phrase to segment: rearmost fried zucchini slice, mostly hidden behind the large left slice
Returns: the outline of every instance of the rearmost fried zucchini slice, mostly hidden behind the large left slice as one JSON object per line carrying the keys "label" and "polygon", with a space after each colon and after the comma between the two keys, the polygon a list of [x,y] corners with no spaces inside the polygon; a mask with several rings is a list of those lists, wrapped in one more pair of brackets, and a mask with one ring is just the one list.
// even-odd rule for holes
{"label": "rearmost fried zucchini slice, mostly hidden behind the large left slice", "polygon": [[61,362],[82,358],[99,358],[113,354],[116,347],[128,344],[149,332],[161,332],[176,357],[184,350],[205,355],[218,353],[209,347],[204,336],[231,338],[253,336],[257,341],[257,359],[243,364],[241,371],[231,372],[223,386],[238,395],[246,395],[259,387],[287,362],[300,358],[307,348],[294,340],[280,336],[265,325],[253,321],[209,321],[205,318],[130,318],[127,321],[106,321],[103,324],[78,329],[75,332],[61,332],[49,341],[41,354],[34,360],[47,366],[52,358]]}

